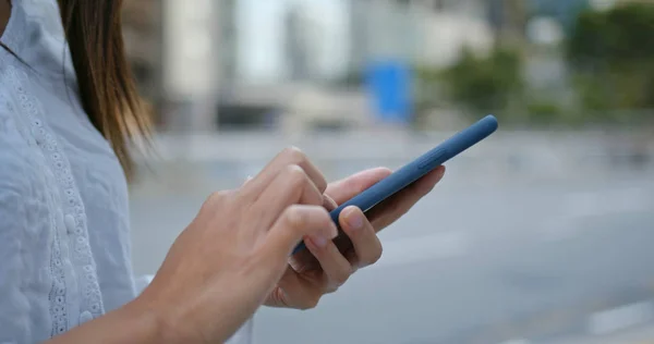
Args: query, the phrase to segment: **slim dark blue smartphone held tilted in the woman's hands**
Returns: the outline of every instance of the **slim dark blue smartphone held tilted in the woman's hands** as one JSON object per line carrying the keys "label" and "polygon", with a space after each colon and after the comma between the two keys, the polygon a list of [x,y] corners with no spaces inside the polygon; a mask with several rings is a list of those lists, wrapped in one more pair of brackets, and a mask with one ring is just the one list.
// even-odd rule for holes
{"label": "slim dark blue smartphone held tilted in the woman's hands", "polygon": [[[411,183],[417,181],[423,175],[441,165],[449,159],[458,156],[465,149],[476,145],[482,139],[488,137],[497,130],[497,119],[489,114],[468,128],[455,134],[452,137],[438,145],[436,148],[427,151],[412,162],[400,168],[389,176],[377,182],[361,194],[343,202],[334,209],[329,214],[331,220],[338,226],[338,217],[340,212],[350,206],[359,207],[363,212],[371,210],[374,206],[392,196]],[[306,248],[304,242],[301,242],[293,249],[293,255]]]}

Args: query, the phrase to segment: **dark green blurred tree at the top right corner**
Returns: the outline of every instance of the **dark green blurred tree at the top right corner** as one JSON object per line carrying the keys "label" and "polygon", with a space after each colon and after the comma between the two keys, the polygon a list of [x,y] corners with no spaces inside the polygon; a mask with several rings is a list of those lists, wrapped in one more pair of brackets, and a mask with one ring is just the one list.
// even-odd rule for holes
{"label": "dark green blurred tree at the top right corner", "polygon": [[608,11],[582,12],[566,51],[581,105],[595,119],[627,121],[625,111],[615,110],[654,108],[651,4],[627,3]]}

